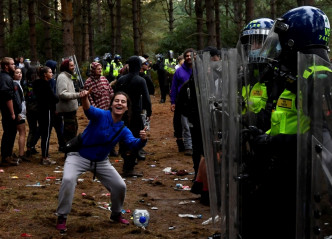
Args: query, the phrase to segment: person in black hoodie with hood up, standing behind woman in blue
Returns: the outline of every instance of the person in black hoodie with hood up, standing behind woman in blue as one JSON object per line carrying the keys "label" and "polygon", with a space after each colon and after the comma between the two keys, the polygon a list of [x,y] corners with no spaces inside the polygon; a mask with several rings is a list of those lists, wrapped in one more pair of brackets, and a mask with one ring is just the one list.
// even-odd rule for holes
{"label": "person in black hoodie with hood up, standing behind woman in blue", "polygon": [[[146,110],[147,120],[150,120],[152,114],[151,100],[149,91],[144,78],[139,76],[142,62],[138,56],[131,56],[128,59],[129,73],[121,76],[115,85],[114,91],[123,91],[129,95],[132,102],[132,112],[125,123],[135,137],[139,137],[140,130],[144,129],[143,119],[141,117],[142,109]],[[143,174],[134,170],[135,162],[138,157],[138,151],[130,151],[120,143],[120,154],[124,159],[123,176],[124,177],[142,177]]]}

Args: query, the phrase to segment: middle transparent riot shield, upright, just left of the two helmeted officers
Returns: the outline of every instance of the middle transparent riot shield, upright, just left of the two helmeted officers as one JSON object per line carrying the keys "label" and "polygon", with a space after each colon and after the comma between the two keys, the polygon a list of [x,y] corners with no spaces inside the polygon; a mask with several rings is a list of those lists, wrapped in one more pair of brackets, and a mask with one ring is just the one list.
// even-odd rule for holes
{"label": "middle transparent riot shield, upright, just left of the two helmeted officers", "polygon": [[241,165],[241,67],[237,49],[222,51],[222,195],[226,238],[238,238],[240,229],[239,180]]}

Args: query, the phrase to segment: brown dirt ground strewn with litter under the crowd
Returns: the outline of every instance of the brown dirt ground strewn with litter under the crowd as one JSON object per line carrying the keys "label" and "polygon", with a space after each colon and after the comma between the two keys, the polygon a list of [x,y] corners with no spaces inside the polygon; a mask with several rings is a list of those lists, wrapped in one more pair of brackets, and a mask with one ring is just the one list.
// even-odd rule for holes
{"label": "brown dirt ground strewn with litter under the crowd", "polygon": [[[4,238],[208,238],[219,228],[202,225],[210,218],[210,208],[199,202],[199,195],[189,190],[176,190],[181,183],[192,186],[191,157],[177,151],[173,137],[170,103],[159,104],[159,95],[151,98],[153,113],[145,161],[136,168],[143,171],[142,178],[126,178],[127,194],[123,216],[130,225],[109,221],[108,191],[92,173],[83,174],[78,181],[72,212],[68,216],[65,236],[55,229],[58,191],[62,178],[64,154],[58,152],[55,131],[52,131],[50,157],[55,166],[39,164],[41,154],[17,167],[0,167],[0,239]],[[78,111],[79,132],[87,125],[82,107]],[[0,136],[2,128],[0,126]],[[41,152],[38,142],[37,150]],[[14,151],[18,154],[17,141]],[[121,173],[121,157],[110,158]],[[165,174],[170,167],[174,173]],[[176,171],[189,174],[177,176]],[[28,186],[30,185],[30,186]],[[33,186],[31,186],[33,185]],[[38,185],[38,186],[35,186]],[[85,196],[84,196],[85,195]],[[132,220],[135,209],[147,209],[150,222],[146,230],[138,228]],[[179,214],[201,215],[201,218],[179,217]]]}

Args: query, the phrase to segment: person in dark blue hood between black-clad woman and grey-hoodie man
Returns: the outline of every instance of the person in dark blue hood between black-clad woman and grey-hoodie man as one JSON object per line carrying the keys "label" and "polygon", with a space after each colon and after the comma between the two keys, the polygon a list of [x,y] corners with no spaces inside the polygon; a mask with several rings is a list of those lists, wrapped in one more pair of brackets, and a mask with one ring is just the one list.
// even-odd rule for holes
{"label": "person in dark blue hood between black-clad woman and grey-hoodie man", "polygon": [[[52,91],[54,94],[56,94],[57,62],[48,60],[46,61],[45,66],[48,66],[52,70],[53,77],[49,80],[49,83]],[[52,127],[54,127],[56,136],[58,138],[59,151],[63,152],[65,146],[65,140],[63,138],[63,119],[62,116],[58,114],[58,112],[55,112],[54,114]]]}

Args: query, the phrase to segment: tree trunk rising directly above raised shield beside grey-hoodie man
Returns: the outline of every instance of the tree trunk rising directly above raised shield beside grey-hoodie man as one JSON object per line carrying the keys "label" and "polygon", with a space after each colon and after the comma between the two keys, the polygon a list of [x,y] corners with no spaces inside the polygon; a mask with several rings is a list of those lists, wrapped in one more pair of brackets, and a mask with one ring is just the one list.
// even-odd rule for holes
{"label": "tree trunk rising directly above raised shield beside grey-hoodie man", "polygon": [[74,5],[74,39],[75,55],[78,63],[82,62],[82,0],[73,0]]}

